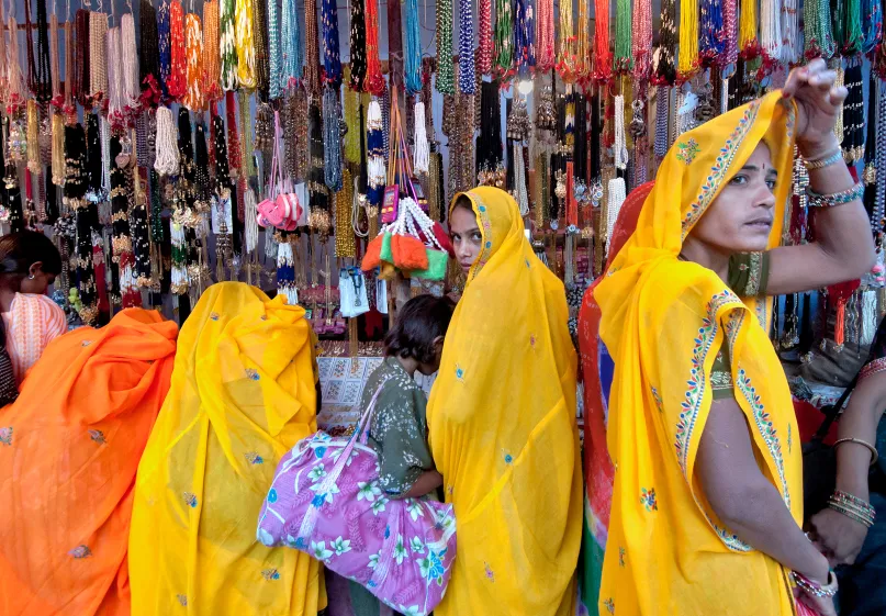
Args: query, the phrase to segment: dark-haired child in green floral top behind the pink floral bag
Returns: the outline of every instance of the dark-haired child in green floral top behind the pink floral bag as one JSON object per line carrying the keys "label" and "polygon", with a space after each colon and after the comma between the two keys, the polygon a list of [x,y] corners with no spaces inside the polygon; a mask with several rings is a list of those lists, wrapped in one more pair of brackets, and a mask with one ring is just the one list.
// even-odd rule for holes
{"label": "dark-haired child in green floral top behind the pink floral bag", "polygon": [[[380,499],[417,499],[442,485],[427,443],[427,397],[413,380],[440,366],[444,337],[452,318],[448,299],[418,295],[400,310],[384,339],[384,361],[367,380],[363,413],[378,392],[369,425],[369,444],[379,455]],[[356,582],[326,572],[329,616],[383,616],[390,608]]]}

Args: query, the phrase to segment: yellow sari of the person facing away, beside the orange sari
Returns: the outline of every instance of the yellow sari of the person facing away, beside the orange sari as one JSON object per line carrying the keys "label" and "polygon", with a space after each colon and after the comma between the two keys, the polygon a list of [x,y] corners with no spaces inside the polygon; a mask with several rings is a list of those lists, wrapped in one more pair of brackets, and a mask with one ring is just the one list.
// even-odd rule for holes
{"label": "yellow sari of the person facing away, beside the orange sari", "polygon": [[301,307],[238,282],[211,287],[188,317],[138,466],[134,615],[315,616],[325,606],[316,560],[256,541],[278,460],[316,430],[310,329]]}

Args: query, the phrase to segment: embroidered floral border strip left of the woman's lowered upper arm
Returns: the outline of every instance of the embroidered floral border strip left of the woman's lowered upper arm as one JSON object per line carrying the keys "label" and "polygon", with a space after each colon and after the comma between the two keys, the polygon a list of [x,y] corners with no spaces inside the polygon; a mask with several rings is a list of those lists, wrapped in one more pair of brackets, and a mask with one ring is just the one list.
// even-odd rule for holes
{"label": "embroidered floral border strip left of the woman's lowered upper arm", "polygon": [[[676,423],[676,456],[683,477],[687,477],[689,444],[692,443],[693,430],[698,418],[698,410],[702,405],[705,388],[705,359],[717,336],[717,312],[728,303],[740,302],[741,300],[728,289],[714,295],[707,304],[707,316],[702,320],[698,335],[692,351],[692,367],[689,378],[686,381],[686,394],[681,403],[682,411]],[[688,480],[688,477],[687,477]]]}

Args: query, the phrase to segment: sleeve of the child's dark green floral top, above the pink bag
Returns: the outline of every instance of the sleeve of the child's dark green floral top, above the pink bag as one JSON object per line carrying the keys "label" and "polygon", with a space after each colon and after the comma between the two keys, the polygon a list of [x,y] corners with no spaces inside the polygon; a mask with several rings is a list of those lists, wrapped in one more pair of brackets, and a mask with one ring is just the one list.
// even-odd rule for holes
{"label": "sleeve of the child's dark green floral top, above the pink bag", "polygon": [[416,385],[403,389],[391,382],[379,395],[370,434],[379,452],[379,484],[397,496],[434,468],[427,444],[427,399]]}

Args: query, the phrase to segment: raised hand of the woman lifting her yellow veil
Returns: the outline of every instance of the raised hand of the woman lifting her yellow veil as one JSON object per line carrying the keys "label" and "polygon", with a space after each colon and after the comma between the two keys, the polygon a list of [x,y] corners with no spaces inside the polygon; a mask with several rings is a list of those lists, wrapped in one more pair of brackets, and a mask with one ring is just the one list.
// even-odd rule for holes
{"label": "raised hand of the woman lifting her yellow veil", "polygon": [[797,102],[797,145],[807,158],[818,158],[839,147],[833,127],[849,94],[835,87],[837,72],[817,58],[805,67],[795,68],[782,89],[785,98]]}

